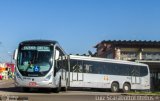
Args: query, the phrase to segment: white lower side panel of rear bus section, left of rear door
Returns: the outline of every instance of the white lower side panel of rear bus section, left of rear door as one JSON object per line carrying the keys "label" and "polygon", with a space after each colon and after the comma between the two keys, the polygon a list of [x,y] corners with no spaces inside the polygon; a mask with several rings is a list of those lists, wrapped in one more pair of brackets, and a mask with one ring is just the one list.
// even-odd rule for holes
{"label": "white lower side panel of rear bus section, left of rear door", "polygon": [[[73,73],[73,76],[76,76]],[[72,76],[70,76],[72,78]],[[122,81],[123,80],[123,81]],[[87,88],[111,88],[111,84],[114,81],[119,83],[119,87],[123,88],[124,82],[130,82],[130,79],[125,76],[115,76],[115,75],[102,75],[102,74],[91,74],[84,73],[83,81],[70,80],[71,87],[87,87]]]}

